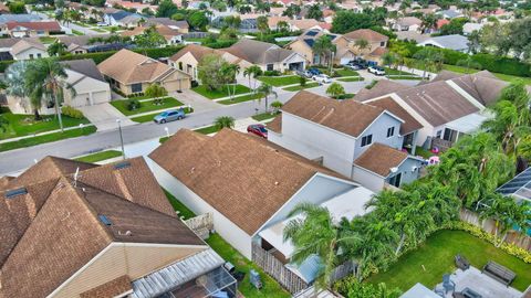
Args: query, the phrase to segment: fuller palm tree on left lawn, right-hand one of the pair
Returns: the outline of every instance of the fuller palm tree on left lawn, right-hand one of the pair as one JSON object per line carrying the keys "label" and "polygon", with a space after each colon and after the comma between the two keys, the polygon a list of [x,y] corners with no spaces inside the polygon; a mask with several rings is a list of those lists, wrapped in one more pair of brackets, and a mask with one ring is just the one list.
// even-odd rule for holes
{"label": "fuller palm tree on left lawn, right-hand one of the pair", "polygon": [[44,98],[54,103],[55,114],[59,118],[59,126],[63,131],[63,120],[61,118],[61,103],[64,100],[64,91],[75,95],[75,91],[66,83],[66,71],[63,64],[54,58],[40,58],[28,64],[24,74],[27,89],[31,89],[32,100]]}

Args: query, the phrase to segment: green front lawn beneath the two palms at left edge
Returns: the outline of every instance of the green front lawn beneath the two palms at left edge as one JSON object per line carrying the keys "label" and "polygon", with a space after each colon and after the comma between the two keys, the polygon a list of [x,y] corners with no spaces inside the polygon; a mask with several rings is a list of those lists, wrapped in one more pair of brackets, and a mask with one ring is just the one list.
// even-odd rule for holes
{"label": "green front lawn beneath the two palms at left edge", "polygon": [[[2,113],[2,116],[9,121],[9,125],[4,132],[0,131],[0,139],[9,139],[60,129],[59,119],[54,115],[43,115],[41,116],[42,119],[39,121],[33,120],[33,115],[11,114],[10,111],[4,111]],[[75,119],[63,115],[62,119],[63,127],[90,124],[85,118]]]}

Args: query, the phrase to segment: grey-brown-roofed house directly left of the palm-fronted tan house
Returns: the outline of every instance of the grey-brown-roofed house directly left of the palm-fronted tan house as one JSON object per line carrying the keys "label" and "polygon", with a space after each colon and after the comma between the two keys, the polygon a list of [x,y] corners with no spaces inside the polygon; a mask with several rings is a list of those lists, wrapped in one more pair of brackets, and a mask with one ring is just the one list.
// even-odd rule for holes
{"label": "grey-brown-roofed house directly left of the palm-fronted tan house", "polygon": [[301,71],[306,63],[306,60],[294,51],[261,41],[242,39],[222,50],[249,64],[260,66],[262,71]]}

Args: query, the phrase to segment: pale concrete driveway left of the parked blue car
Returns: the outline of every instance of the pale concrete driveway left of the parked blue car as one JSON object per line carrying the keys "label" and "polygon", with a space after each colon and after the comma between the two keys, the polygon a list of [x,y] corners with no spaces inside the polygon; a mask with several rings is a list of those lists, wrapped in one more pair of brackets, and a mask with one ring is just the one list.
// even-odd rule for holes
{"label": "pale concrete driveway left of the parked blue car", "polygon": [[116,129],[117,124],[116,120],[121,120],[122,127],[136,125],[135,121],[132,121],[119,110],[113,107],[110,103],[86,106],[79,108],[83,111],[83,115],[97,127],[98,131],[112,130]]}

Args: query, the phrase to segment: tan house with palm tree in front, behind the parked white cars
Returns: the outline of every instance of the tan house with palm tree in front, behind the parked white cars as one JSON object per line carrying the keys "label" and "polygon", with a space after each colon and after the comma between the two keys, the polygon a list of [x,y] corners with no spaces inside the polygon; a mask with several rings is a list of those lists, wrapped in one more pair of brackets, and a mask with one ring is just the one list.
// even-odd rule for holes
{"label": "tan house with palm tree in front, behind the parked white cars", "polygon": [[330,61],[330,56],[316,55],[313,51],[313,44],[315,43],[315,40],[320,39],[321,36],[329,38],[332,41],[332,44],[335,45],[335,64],[346,64],[356,56],[354,50],[348,46],[348,40],[340,34],[331,34],[317,29],[311,29],[303,32],[294,41],[288,43],[285,47],[302,55],[306,60],[308,64],[326,64],[327,61]]}

